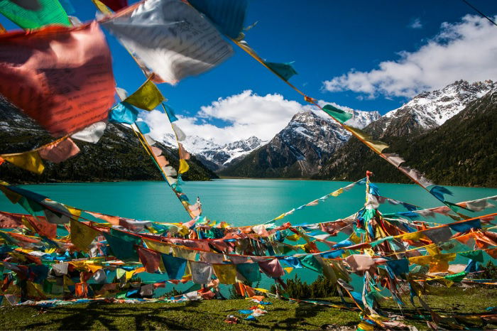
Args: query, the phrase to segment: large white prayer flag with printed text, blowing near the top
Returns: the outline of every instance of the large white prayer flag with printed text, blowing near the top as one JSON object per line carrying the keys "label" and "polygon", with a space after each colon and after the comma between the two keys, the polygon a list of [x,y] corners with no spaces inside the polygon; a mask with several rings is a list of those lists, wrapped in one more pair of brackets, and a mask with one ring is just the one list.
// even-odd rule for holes
{"label": "large white prayer flag with printed text, blowing near the top", "polygon": [[102,25],[155,75],[173,85],[233,53],[207,18],[181,0],[145,0]]}

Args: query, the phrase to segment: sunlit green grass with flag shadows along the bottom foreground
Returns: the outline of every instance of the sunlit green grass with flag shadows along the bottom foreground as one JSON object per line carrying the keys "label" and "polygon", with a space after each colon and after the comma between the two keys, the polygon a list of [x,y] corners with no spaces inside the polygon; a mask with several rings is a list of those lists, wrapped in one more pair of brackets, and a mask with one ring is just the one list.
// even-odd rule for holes
{"label": "sunlit green grass with flag shadows along the bottom foreground", "polygon": [[[483,313],[495,305],[496,289],[457,288],[435,289],[437,295],[428,295],[427,303],[439,314],[464,315]],[[0,309],[1,330],[254,330],[254,329],[320,329],[323,325],[354,330],[359,323],[359,312],[328,308],[323,305],[290,303],[285,300],[267,299],[268,313],[257,321],[242,320],[230,325],[224,322],[226,315],[240,315],[238,310],[247,309],[250,300],[202,300],[186,303],[87,303],[55,308],[10,307]],[[340,304],[339,298],[329,301]],[[405,297],[407,307],[403,313],[418,314]],[[401,315],[400,309],[391,302],[382,304],[390,313]],[[424,315],[427,312],[422,311]],[[405,324],[427,330],[419,319],[406,318]],[[487,325],[495,328],[497,325]]]}

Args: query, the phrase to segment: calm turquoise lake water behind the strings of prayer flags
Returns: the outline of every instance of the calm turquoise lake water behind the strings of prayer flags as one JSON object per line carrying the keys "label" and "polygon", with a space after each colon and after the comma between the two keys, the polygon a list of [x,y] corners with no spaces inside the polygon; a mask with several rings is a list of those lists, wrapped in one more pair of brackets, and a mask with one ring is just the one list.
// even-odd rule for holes
{"label": "calm turquoise lake water behind the strings of prayer flags", "polygon": [[[203,215],[232,225],[261,224],[283,212],[304,205],[350,182],[313,180],[253,180],[222,179],[210,182],[186,182],[182,188],[195,202],[200,196]],[[441,203],[417,185],[376,183],[380,194],[396,200],[409,202],[420,207],[437,207]],[[146,219],[155,222],[187,222],[188,217],[182,205],[164,182],[119,182],[119,183],[64,183],[43,185],[22,185],[50,199],[73,207],[104,214]],[[475,200],[497,195],[497,188],[448,187],[454,195],[451,202]],[[329,197],[314,207],[288,215],[283,222],[292,224],[327,222],[354,214],[364,205],[365,186],[356,185],[338,197]],[[12,205],[4,195],[0,195],[0,210],[24,212],[18,205]],[[383,213],[405,211],[402,207],[380,205]],[[484,215],[496,212],[497,208],[469,215]],[[430,219],[428,219],[430,220]],[[451,222],[449,217],[437,217],[435,222]],[[278,224],[278,223],[277,223]],[[330,240],[336,241],[339,237]],[[463,263],[461,261],[461,263]],[[295,271],[290,273],[293,277]],[[299,269],[297,274],[307,281],[317,276],[312,271]],[[287,276],[287,277],[288,277]],[[153,275],[157,280],[161,275]],[[270,279],[263,279],[260,286],[269,288]],[[356,282],[354,282],[356,283]],[[190,284],[191,285],[191,284]],[[181,286],[185,289],[188,286]]]}

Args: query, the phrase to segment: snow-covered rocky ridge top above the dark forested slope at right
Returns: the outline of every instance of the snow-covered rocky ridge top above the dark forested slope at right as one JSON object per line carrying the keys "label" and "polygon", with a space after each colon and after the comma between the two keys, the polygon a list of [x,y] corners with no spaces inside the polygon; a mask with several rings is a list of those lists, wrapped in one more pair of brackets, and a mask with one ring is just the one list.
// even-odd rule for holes
{"label": "snow-covered rocky ridge top above the dark forested slope at right", "polygon": [[380,138],[435,129],[459,114],[470,102],[483,97],[494,85],[491,80],[472,84],[458,80],[443,89],[417,94],[402,107],[393,109],[371,124],[371,129]]}

